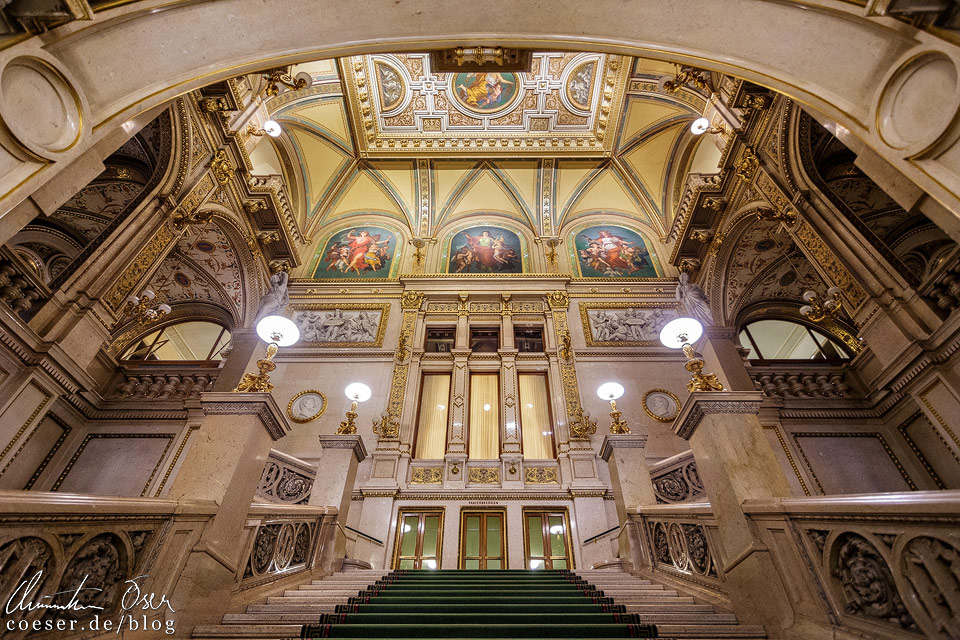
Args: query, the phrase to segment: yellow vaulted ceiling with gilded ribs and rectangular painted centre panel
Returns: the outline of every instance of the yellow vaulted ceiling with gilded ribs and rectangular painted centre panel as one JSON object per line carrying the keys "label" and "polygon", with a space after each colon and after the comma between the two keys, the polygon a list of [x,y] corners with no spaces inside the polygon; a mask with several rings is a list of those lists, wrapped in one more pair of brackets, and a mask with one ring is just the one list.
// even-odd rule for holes
{"label": "yellow vaulted ceiling with gilded ribs and rectangular painted centre panel", "polygon": [[470,219],[536,238],[590,217],[659,240],[691,165],[720,158],[689,133],[706,96],[657,89],[666,63],[540,52],[530,73],[453,74],[395,54],[303,72],[311,86],[266,105],[283,135],[251,157],[255,173],[282,171],[314,256],[358,216],[434,241]]}

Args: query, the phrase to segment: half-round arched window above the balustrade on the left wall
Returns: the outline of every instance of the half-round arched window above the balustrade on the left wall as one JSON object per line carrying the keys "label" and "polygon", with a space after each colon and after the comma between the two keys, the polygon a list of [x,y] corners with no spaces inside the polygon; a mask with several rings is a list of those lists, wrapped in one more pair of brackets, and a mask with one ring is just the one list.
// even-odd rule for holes
{"label": "half-round arched window above the balustrade on the left wall", "polygon": [[219,324],[188,320],[149,333],[129,349],[122,360],[220,360],[230,332]]}

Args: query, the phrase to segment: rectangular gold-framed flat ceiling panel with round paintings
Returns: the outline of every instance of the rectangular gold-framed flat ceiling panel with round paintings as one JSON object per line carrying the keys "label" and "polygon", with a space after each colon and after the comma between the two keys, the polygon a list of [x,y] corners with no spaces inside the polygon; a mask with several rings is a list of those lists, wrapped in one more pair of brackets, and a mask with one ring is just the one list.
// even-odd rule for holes
{"label": "rectangular gold-framed flat ceiling panel with round paintings", "polygon": [[448,72],[434,69],[428,53],[341,59],[360,157],[612,155],[630,59],[596,52],[531,58],[529,73],[470,68],[468,53],[460,66],[454,54],[445,70],[457,71]]}

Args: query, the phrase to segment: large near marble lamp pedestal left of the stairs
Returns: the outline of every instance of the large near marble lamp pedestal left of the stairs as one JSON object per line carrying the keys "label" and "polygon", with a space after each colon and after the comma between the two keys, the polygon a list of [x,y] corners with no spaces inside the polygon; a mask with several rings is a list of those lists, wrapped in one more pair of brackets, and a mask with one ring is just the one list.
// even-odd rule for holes
{"label": "large near marble lamp pedestal left of the stairs", "polygon": [[268,393],[204,393],[203,424],[170,485],[170,500],[210,500],[217,513],[191,550],[172,602],[177,623],[219,622],[245,545],[237,544],[273,443],[290,432]]}

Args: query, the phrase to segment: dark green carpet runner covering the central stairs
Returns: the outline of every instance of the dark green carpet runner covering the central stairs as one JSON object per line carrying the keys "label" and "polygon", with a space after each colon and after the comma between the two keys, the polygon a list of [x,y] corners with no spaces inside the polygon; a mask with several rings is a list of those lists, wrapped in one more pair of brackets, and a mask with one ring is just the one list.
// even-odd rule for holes
{"label": "dark green carpet runner covering the central stairs", "polygon": [[301,638],[656,638],[571,571],[394,571]]}

